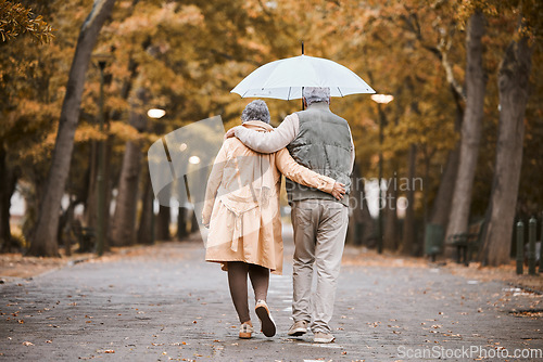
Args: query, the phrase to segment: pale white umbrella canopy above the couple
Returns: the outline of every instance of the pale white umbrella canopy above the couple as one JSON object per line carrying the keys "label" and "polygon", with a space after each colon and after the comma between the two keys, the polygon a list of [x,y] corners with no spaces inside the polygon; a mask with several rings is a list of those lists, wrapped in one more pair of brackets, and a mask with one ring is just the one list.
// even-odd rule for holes
{"label": "pale white umbrella canopy above the couple", "polygon": [[375,93],[348,67],[323,57],[300,55],[275,61],[247,76],[232,93],[241,98],[302,98],[302,87],[329,87],[331,96]]}

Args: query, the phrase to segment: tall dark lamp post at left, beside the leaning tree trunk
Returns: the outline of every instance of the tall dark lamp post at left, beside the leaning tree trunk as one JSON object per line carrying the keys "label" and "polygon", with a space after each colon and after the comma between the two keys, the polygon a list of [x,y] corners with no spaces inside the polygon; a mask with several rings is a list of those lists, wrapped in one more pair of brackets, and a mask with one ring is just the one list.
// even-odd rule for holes
{"label": "tall dark lamp post at left, beside the leaning tree trunk", "polygon": [[[94,54],[93,59],[98,61],[98,68],[100,69],[100,98],[99,98],[99,114],[98,122],[100,133],[103,132],[104,124],[104,69],[109,60],[112,59],[109,54]],[[98,225],[97,225],[97,255],[101,256],[104,251],[105,245],[105,142],[100,140],[98,144],[98,172],[97,172],[97,184],[98,184]]]}

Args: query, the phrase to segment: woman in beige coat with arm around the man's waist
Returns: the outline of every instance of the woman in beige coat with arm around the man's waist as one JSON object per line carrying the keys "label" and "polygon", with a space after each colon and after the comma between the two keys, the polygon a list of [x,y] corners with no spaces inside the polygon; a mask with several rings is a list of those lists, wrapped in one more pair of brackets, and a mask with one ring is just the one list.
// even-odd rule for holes
{"label": "woman in beige coat with arm around the man's waist", "polygon": [[[241,114],[244,127],[273,131],[264,101],[253,101]],[[251,338],[249,315],[249,274],[256,299],[255,312],[265,336],[276,326],[266,305],[269,271],[282,271],[282,238],[279,211],[281,173],[305,186],[318,189],[341,199],[343,184],[298,165],[283,148],[258,154],[236,138],[227,139],[217,154],[207,181],[202,211],[210,228],[205,260],[220,262],[228,271],[228,284],[241,323],[239,337]]]}

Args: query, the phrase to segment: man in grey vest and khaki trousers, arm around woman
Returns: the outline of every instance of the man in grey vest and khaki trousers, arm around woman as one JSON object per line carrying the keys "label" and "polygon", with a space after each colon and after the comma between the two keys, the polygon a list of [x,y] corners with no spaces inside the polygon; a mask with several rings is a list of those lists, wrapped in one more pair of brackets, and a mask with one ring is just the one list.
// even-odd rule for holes
{"label": "man in grey vest and khaki trousers, arm around woman", "polygon": [[[227,137],[236,135],[250,148],[273,153],[287,146],[301,165],[345,184],[350,192],[350,174],[354,164],[354,145],[345,119],[330,112],[330,89],[306,87],[303,101],[307,109],[285,118],[273,132],[258,133],[236,127]],[[333,313],[336,282],[349,222],[349,196],[337,201],[316,189],[287,179],[289,204],[294,228],[293,301],[294,324],[290,336],[302,336],[311,329],[315,342],[331,342],[330,322]],[[317,287],[312,297],[314,264]],[[313,306],[310,306],[313,300]]]}

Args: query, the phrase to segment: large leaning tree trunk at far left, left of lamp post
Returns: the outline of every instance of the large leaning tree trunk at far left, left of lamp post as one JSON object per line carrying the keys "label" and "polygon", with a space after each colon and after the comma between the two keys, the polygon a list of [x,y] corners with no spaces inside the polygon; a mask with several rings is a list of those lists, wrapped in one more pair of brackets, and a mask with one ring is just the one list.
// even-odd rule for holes
{"label": "large leaning tree trunk at far left, left of lamp post", "polygon": [[102,25],[110,16],[115,0],[96,0],[85,20],[77,40],[66,94],[62,104],[59,131],[54,144],[51,168],[46,181],[46,192],[40,203],[38,220],[31,234],[29,255],[59,256],[56,233],[62,195],[66,185],[74,148],[74,134],[79,121],[79,108],[90,54]]}

